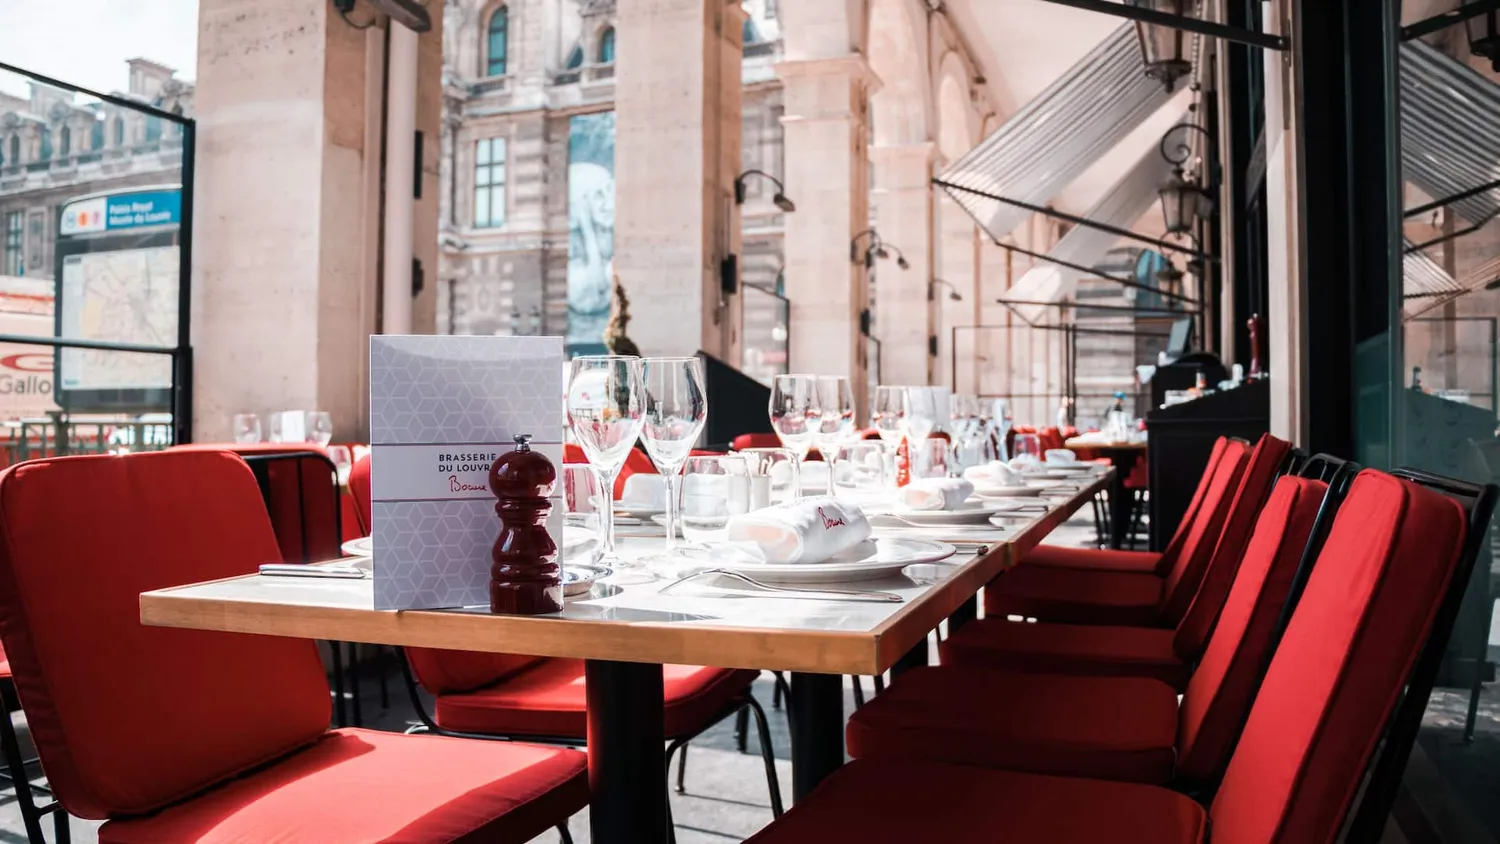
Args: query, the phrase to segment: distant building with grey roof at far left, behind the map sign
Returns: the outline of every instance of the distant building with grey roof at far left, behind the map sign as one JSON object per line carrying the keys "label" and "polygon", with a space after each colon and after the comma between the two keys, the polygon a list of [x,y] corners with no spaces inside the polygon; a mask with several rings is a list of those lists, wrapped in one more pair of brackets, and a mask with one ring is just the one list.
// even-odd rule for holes
{"label": "distant building with grey roof at far left, behind the map sign", "polygon": [[[116,96],[192,115],[194,85],[132,58]],[[168,120],[28,82],[0,91],[0,276],[52,277],[57,208],[88,193],[182,181],[182,129]]]}

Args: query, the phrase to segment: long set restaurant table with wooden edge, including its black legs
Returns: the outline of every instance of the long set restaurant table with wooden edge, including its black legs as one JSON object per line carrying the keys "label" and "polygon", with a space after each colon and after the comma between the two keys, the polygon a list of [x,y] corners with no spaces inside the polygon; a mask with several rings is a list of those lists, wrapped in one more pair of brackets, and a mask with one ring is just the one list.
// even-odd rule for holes
{"label": "long set restaurant table with wooden edge, including its black legs", "polygon": [[[249,574],[146,592],[141,622],[580,658],[588,687],[592,840],[651,844],[668,837],[663,664],[792,672],[792,793],[801,799],[843,765],[843,675],[879,675],[886,669],[894,675],[926,664],[928,631],[950,616],[950,625],[972,618],[980,588],[1094,498],[1110,474],[1056,487],[1047,510],[1006,514],[1006,525],[994,529],[994,541],[984,553],[960,552],[939,564],[946,576],[936,582],[892,576],[831,585],[896,592],[902,603],[723,591],[704,595],[698,588],[662,595],[668,582],[657,580],[600,583],[549,616],[492,615],[488,609],[390,612],[372,609],[372,580]],[[630,556],[658,549],[660,543],[626,538],[620,549]]]}

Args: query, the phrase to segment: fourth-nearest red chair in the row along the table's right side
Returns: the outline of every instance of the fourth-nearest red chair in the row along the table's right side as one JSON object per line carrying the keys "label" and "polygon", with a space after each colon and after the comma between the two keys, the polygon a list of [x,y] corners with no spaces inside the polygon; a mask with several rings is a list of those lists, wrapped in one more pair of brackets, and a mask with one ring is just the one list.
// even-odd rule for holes
{"label": "fourth-nearest red chair in the row along the table's right side", "polygon": [[[1214,477],[1203,495],[1198,514],[1192,517],[1186,537],[1174,555],[1167,574],[1130,571],[1088,571],[1024,561],[1014,570],[990,582],[984,589],[988,616],[1024,616],[1040,621],[1070,624],[1118,624],[1132,627],[1176,627],[1197,595],[1208,573],[1226,517],[1238,493],[1246,463],[1244,442],[1230,441],[1214,468]],[[1245,520],[1239,526],[1248,534],[1254,511],[1269,489],[1280,460],[1260,463],[1252,495],[1246,495]]]}

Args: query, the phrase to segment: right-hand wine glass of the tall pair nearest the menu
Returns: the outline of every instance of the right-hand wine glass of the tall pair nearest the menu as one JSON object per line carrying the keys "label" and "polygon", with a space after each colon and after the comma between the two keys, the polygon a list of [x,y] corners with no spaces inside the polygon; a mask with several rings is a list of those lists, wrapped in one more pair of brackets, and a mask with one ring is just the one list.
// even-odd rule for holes
{"label": "right-hand wine glass of the tall pair nearest the menu", "polygon": [[708,417],[704,370],[698,358],[645,358],[640,361],[640,439],[666,484],[666,547],[676,546],[676,474],[693,451]]}

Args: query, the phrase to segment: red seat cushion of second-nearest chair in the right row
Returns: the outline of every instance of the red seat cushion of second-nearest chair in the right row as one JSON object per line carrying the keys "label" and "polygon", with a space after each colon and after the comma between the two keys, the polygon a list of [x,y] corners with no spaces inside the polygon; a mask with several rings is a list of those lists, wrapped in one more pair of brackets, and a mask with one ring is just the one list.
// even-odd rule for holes
{"label": "red seat cushion of second-nearest chair in the right row", "polygon": [[855,759],[1167,783],[1178,693],[1140,678],[914,669],[850,718]]}

